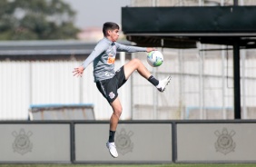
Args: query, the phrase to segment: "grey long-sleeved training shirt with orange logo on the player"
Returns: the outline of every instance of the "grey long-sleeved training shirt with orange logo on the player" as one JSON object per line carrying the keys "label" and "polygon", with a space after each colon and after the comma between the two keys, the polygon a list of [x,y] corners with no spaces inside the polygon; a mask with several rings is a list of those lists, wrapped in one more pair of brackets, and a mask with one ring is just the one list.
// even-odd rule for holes
{"label": "grey long-sleeved training shirt with orange logo on the player", "polygon": [[83,63],[85,69],[94,61],[94,82],[113,77],[116,52],[146,52],[146,48],[114,43],[104,37]]}

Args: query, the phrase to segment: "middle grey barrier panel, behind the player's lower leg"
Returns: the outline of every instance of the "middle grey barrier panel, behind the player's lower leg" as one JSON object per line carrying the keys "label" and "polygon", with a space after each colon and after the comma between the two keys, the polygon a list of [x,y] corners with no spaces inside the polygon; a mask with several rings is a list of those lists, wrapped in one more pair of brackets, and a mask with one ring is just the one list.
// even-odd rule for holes
{"label": "middle grey barrier panel, behind the player's lower leg", "polygon": [[106,123],[76,123],[75,161],[172,162],[170,123],[121,123],[115,133],[115,144],[119,152],[115,160],[105,146],[108,132],[109,126]]}

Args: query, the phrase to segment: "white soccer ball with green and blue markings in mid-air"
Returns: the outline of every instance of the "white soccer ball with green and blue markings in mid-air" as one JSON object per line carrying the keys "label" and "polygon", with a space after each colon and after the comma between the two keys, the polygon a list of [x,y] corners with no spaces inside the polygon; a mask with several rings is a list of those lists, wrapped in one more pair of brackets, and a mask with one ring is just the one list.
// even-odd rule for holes
{"label": "white soccer ball with green and blue markings in mid-air", "polygon": [[162,53],[159,51],[152,51],[147,55],[148,64],[153,67],[160,66],[163,62]]}

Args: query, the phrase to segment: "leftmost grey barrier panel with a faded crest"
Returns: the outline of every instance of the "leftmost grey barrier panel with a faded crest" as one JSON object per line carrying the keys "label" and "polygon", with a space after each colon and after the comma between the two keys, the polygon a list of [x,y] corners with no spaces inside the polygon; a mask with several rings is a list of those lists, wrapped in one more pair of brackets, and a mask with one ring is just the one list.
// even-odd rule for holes
{"label": "leftmost grey barrier panel with a faded crest", "polygon": [[69,123],[1,123],[0,163],[70,162]]}

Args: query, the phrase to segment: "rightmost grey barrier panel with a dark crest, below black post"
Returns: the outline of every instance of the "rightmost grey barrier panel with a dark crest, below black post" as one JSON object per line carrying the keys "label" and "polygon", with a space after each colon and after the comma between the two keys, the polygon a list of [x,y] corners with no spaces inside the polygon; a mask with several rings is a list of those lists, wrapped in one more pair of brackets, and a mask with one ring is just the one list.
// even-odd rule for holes
{"label": "rightmost grey barrier panel with a dark crest, below black post", "polygon": [[177,162],[255,162],[256,123],[178,123]]}

